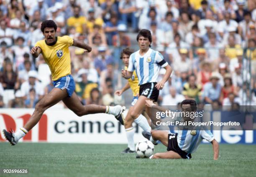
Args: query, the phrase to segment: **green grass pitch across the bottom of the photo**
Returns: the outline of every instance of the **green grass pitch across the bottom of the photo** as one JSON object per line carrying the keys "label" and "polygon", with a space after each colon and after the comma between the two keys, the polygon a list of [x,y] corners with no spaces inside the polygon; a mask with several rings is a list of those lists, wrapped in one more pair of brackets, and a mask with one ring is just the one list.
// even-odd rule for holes
{"label": "green grass pitch across the bottom of the photo", "polygon": [[[1,177],[252,177],[255,145],[220,145],[218,161],[212,146],[200,145],[191,160],[136,159],[121,154],[126,145],[0,143]],[[164,152],[163,145],[155,146]],[[28,174],[3,174],[3,169],[28,169]]]}

